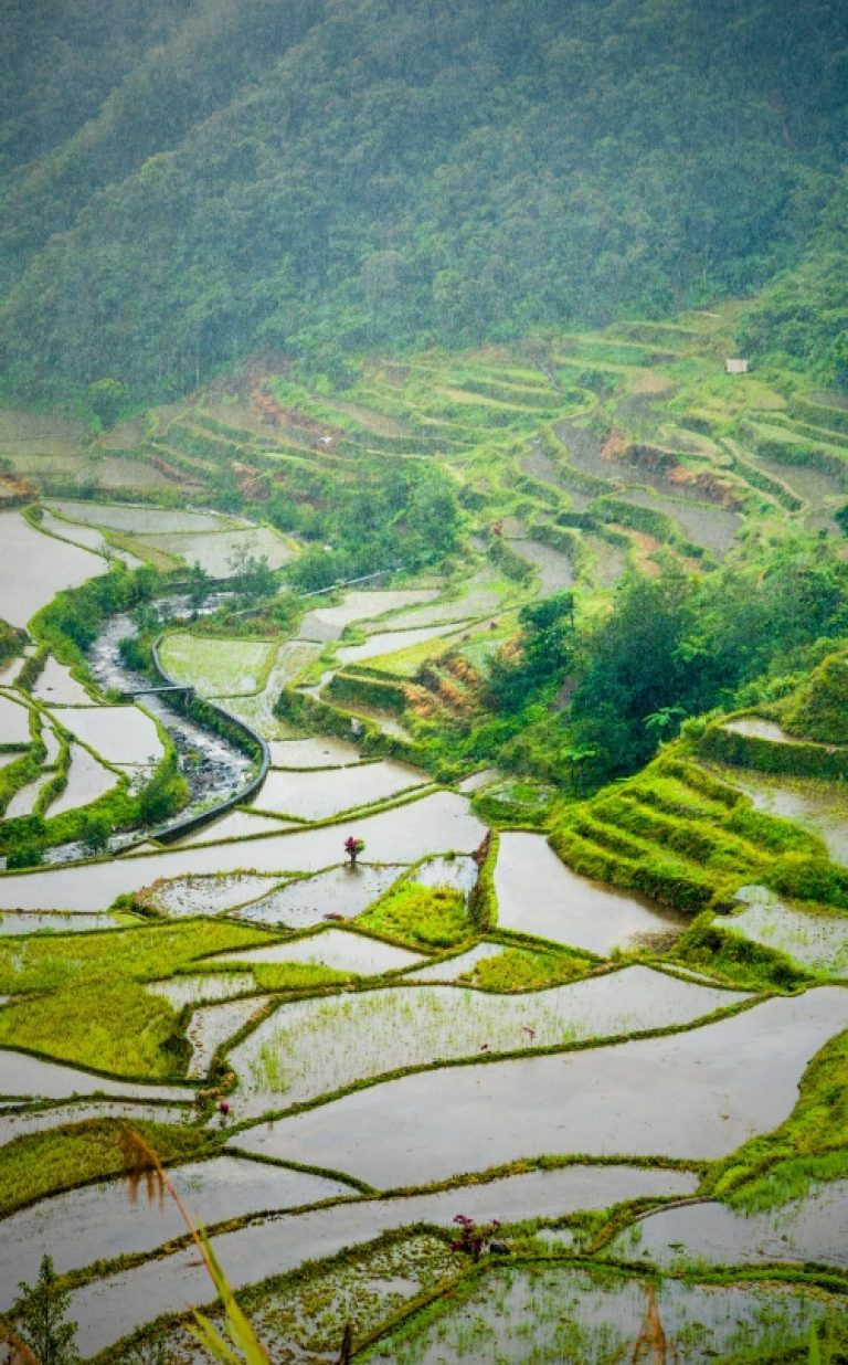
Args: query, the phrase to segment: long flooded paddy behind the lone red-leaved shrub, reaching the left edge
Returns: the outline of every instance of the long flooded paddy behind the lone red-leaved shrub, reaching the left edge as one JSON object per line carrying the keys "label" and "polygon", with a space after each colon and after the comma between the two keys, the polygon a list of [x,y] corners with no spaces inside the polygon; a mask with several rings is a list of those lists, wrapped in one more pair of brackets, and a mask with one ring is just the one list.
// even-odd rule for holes
{"label": "long flooded paddy behind the lone red-leaved shrub, reaching the left edge", "polygon": [[[350,829],[326,826],[234,844],[173,849],[142,857],[63,867],[55,871],[0,876],[0,910],[96,910],[108,908],[122,891],[139,890],[158,878],[210,872],[317,872],[337,863]],[[412,863],[448,849],[471,852],[486,827],[468,801],[453,792],[434,792],[418,801],[356,820],[354,833],[367,845],[367,857]],[[332,908],[332,906],[330,906]]]}

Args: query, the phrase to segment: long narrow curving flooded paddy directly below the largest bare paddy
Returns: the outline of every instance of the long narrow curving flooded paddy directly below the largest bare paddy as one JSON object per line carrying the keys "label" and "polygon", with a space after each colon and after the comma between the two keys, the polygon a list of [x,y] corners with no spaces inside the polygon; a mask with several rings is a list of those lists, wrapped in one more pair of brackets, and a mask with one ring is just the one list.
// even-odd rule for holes
{"label": "long narrow curving flooded paddy directly below the largest bare paddy", "polygon": [[[686,1194],[692,1186],[691,1175],[676,1171],[575,1166],[438,1194],[358,1200],[336,1208],[283,1215],[214,1237],[213,1248],[229,1283],[242,1289],[415,1222],[449,1226],[457,1212],[479,1222],[556,1218],[580,1208],[606,1207],[610,1198]],[[212,1298],[209,1279],[197,1257],[176,1252],[75,1290],[68,1317],[79,1323],[78,1345],[83,1354],[93,1355],[161,1313],[182,1313],[186,1304]]]}

